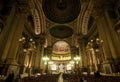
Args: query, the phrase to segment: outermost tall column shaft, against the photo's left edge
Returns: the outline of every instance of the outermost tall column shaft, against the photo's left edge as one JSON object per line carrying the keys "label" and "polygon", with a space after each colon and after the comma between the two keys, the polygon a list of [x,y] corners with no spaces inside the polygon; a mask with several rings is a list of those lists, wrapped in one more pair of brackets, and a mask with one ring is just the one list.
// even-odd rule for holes
{"label": "outermost tall column shaft, against the photo's left edge", "polygon": [[4,62],[7,56],[9,47],[10,47],[10,41],[9,41],[11,37],[10,34],[12,33],[12,30],[15,29],[15,27],[12,27],[12,26],[17,24],[17,21],[15,21],[14,24],[12,24],[13,20],[15,20],[14,18],[15,10],[16,10],[16,5],[14,4],[11,8],[10,14],[8,15],[6,19],[6,25],[2,33],[0,34],[0,60],[1,62]]}

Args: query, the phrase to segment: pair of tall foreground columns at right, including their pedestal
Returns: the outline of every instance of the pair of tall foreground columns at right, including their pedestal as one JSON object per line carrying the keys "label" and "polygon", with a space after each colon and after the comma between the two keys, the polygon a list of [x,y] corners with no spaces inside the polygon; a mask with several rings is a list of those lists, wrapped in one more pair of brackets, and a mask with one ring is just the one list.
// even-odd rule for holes
{"label": "pair of tall foreground columns at right, including their pedestal", "polygon": [[[110,25],[110,19],[105,11],[102,16],[97,19],[97,29],[99,32],[99,37],[103,40],[103,54],[105,56],[105,61],[103,62],[104,71],[106,73],[114,72],[113,63],[115,57],[119,54],[119,42],[116,39],[115,30]],[[115,47],[116,46],[116,47]]]}

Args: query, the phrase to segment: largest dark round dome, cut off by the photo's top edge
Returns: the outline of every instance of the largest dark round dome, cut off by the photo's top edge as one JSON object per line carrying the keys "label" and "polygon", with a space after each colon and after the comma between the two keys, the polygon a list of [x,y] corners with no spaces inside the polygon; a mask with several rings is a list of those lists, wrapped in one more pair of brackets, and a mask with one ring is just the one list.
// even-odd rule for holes
{"label": "largest dark round dome, cut off by the photo's top edge", "polygon": [[43,0],[45,16],[56,23],[73,21],[80,12],[80,0]]}

